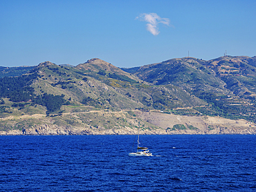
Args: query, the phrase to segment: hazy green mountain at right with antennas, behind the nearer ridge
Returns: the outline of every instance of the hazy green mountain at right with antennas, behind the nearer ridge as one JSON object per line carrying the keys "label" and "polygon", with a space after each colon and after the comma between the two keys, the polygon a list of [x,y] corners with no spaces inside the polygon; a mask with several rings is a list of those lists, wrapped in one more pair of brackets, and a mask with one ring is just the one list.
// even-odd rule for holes
{"label": "hazy green mountain at right with antennas, behind the nearer ridge", "polygon": [[202,99],[208,104],[196,111],[203,114],[253,119],[255,64],[255,57],[225,56],[210,61],[184,57],[129,71],[154,85],[172,84]]}

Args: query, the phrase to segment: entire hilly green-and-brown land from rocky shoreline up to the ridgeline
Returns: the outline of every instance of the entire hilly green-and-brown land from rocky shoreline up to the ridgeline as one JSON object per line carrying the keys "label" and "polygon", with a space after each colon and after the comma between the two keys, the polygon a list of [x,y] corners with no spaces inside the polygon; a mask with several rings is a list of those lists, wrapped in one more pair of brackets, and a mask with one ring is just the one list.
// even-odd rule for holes
{"label": "entire hilly green-and-brown land from rocky shoreline up to the ridgeline", "polygon": [[255,67],[256,57],[231,56],[136,68],[45,61],[0,78],[0,135],[136,134],[138,124],[145,134],[253,134]]}

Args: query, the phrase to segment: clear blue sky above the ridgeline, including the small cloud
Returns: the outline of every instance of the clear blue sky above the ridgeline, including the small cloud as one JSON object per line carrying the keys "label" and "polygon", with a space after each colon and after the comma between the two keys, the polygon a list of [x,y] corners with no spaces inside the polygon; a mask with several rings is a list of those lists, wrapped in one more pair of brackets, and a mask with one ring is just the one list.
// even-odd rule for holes
{"label": "clear blue sky above the ridgeline, including the small cloud", "polygon": [[0,0],[0,66],[256,55],[255,0]]}

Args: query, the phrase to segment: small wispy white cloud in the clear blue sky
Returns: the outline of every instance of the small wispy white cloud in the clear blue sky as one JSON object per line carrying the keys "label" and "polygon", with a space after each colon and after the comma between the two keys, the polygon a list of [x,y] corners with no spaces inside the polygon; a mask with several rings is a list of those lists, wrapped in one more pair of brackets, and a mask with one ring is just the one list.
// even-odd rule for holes
{"label": "small wispy white cloud in the clear blue sky", "polygon": [[147,22],[147,30],[153,35],[158,35],[158,23],[163,23],[166,26],[170,26],[170,19],[161,18],[156,13],[142,13],[136,19]]}

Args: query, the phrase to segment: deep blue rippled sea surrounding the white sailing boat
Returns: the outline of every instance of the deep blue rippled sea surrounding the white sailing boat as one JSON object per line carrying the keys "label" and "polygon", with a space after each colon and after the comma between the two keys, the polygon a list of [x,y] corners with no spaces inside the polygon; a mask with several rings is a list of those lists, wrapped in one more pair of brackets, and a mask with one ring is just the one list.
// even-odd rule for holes
{"label": "deep blue rippled sea surrounding the white sailing boat", "polygon": [[256,135],[0,136],[0,191],[256,191]]}

